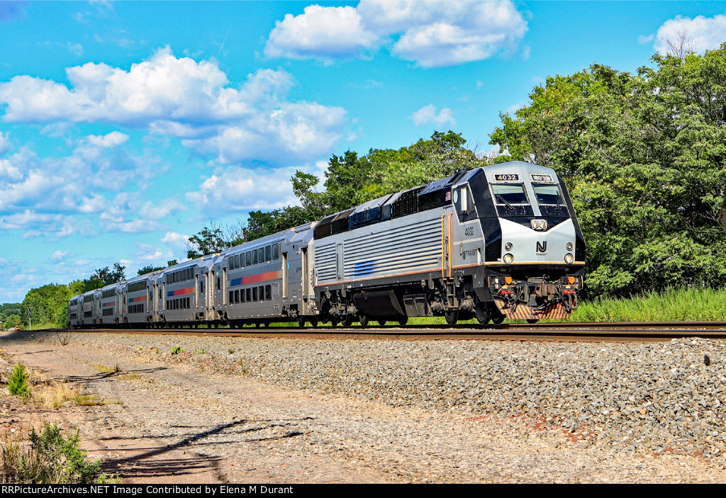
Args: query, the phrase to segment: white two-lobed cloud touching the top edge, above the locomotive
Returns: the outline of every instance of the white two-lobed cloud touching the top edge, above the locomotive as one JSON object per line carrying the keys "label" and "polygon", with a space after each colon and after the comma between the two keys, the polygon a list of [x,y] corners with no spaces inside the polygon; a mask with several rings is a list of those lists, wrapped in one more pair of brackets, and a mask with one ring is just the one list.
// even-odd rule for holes
{"label": "white two-lobed cloud touching the top edge, above the locomotive", "polygon": [[422,67],[462,64],[518,50],[527,23],[513,2],[362,0],[357,7],[306,7],[285,15],[265,54],[325,62],[361,56],[386,41]]}

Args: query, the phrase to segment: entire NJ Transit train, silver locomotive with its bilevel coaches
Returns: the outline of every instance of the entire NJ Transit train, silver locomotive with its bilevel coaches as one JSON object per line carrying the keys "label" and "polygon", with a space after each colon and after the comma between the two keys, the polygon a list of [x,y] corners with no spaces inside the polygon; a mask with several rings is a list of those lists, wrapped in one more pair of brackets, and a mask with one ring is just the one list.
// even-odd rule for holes
{"label": "entire NJ Transit train, silver locomotive with its bilevel coaches", "polygon": [[70,299],[70,325],[365,326],[567,318],[585,242],[554,170],[452,174]]}

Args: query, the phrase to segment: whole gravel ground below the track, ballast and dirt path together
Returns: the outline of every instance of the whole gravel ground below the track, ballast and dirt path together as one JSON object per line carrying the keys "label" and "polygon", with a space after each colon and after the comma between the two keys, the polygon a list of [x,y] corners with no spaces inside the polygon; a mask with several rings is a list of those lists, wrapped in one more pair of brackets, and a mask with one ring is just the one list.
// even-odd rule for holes
{"label": "whole gravel ground below the track, ballast and dirt path together", "polygon": [[0,347],[107,403],[30,410],[6,389],[0,421],[77,427],[124,483],[726,480],[718,341],[6,333]]}

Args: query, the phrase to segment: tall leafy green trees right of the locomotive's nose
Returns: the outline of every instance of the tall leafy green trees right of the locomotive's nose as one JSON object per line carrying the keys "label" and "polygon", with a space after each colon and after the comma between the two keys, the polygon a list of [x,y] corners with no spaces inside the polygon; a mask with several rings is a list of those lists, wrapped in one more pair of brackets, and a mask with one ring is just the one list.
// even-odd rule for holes
{"label": "tall leafy green trees right of the locomotive's nose", "polygon": [[721,285],[726,268],[726,45],[547,78],[490,135],[554,168],[588,241],[592,294]]}

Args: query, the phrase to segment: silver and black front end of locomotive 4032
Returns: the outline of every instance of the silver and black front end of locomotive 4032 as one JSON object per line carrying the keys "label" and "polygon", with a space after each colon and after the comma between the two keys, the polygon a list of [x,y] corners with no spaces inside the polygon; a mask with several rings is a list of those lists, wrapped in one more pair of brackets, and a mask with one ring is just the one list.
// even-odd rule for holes
{"label": "silver and black front end of locomotive 4032", "polygon": [[523,162],[484,173],[493,208],[482,217],[491,235],[487,294],[507,318],[567,318],[582,289],[585,244],[566,186],[554,170]]}

